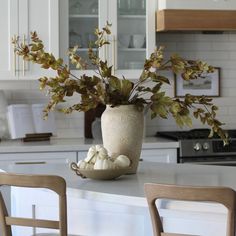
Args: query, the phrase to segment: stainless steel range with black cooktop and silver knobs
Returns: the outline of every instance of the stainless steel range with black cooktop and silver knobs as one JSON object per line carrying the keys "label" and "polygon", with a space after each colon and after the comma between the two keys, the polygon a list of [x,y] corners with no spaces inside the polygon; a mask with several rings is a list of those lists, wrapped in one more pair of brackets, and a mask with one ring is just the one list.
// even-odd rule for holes
{"label": "stainless steel range with black cooktop and silver knobs", "polygon": [[227,146],[217,137],[208,138],[208,129],[158,132],[157,136],[179,141],[178,163],[236,166],[236,130],[228,130],[228,133]]}

